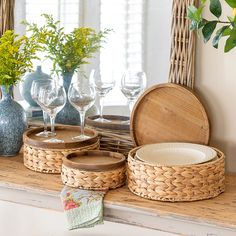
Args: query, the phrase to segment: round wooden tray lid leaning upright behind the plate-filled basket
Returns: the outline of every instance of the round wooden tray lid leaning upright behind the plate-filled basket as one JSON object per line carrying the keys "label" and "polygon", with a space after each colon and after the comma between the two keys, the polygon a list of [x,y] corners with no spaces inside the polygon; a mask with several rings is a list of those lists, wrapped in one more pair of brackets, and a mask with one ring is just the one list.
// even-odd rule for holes
{"label": "round wooden tray lid leaning upright behind the plate-filled basket", "polygon": [[161,142],[207,145],[210,136],[209,120],[199,99],[172,83],[155,85],[138,99],[130,129],[137,146]]}

